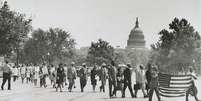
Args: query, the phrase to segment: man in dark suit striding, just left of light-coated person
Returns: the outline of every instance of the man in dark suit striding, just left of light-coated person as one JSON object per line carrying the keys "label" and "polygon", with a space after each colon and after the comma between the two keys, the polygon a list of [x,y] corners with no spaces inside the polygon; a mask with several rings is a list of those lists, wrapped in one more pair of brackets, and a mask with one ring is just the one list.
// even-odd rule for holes
{"label": "man in dark suit striding, just left of light-coated person", "polygon": [[133,90],[132,90],[132,84],[131,84],[131,65],[130,64],[127,64],[127,66],[125,66],[126,68],[124,69],[123,71],[123,75],[124,75],[124,87],[123,87],[123,94],[122,94],[122,97],[124,98],[125,97],[125,91],[126,91],[126,88],[128,87],[129,91],[130,91],[130,94],[131,94],[131,97],[134,97],[134,93],[133,93]]}

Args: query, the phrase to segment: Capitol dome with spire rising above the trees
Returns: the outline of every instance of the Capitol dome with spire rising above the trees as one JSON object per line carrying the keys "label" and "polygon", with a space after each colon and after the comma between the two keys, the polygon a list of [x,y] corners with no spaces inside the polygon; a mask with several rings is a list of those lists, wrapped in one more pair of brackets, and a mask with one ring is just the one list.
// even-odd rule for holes
{"label": "Capitol dome with spire rising above the trees", "polygon": [[141,49],[145,48],[145,40],[143,31],[139,27],[138,18],[136,18],[135,27],[131,30],[129,39],[127,40],[127,48],[129,49]]}

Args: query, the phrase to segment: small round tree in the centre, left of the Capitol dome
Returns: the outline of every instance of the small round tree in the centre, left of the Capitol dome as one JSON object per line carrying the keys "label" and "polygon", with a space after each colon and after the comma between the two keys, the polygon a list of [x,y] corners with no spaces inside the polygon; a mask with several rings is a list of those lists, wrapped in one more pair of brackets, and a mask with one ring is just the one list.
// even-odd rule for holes
{"label": "small round tree in the centre, left of the Capitol dome", "polygon": [[90,65],[101,65],[103,62],[109,64],[114,59],[114,48],[108,42],[99,39],[92,42],[87,55],[87,62]]}

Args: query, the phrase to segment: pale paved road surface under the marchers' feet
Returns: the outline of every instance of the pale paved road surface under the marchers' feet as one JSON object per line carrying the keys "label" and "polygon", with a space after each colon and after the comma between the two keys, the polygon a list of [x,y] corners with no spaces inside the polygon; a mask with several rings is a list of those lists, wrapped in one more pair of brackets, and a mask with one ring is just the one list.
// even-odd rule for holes
{"label": "pale paved road surface under the marchers' feet", "polygon": [[[2,83],[2,79],[0,79]],[[201,84],[201,78],[197,81],[197,85]],[[99,83],[97,88],[99,87]],[[5,88],[7,85],[5,85]],[[198,86],[198,91],[201,92],[201,86]],[[73,92],[67,92],[67,88],[63,88],[63,92],[56,92],[48,82],[47,88],[34,87],[32,84],[21,84],[20,80],[12,82],[12,90],[0,90],[0,101],[148,101],[144,99],[142,92],[139,91],[138,98],[132,99],[128,91],[126,91],[126,98],[121,98],[121,92],[117,93],[118,98],[109,99],[108,87],[105,93],[100,93],[99,89],[92,92],[90,80],[85,88],[85,92],[80,92],[79,81],[76,81],[76,88]],[[201,98],[201,93],[198,93]],[[180,98],[162,98],[164,101],[185,101],[184,97]],[[154,100],[157,101],[154,96]],[[189,101],[194,101],[191,97]]]}

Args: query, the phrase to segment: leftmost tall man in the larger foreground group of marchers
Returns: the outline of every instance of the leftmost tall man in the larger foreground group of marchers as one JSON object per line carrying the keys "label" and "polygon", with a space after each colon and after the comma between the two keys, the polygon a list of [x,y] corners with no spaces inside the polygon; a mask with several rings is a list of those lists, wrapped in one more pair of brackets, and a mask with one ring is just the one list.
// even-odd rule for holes
{"label": "leftmost tall man in the larger foreground group of marchers", "polygon": [[116,95],[116,86],[117,86],[117,70],[115,67],[114,61],[111,62],[111,65],[108,68],[108,81],[109,81],[109,96],[110,98]]}

